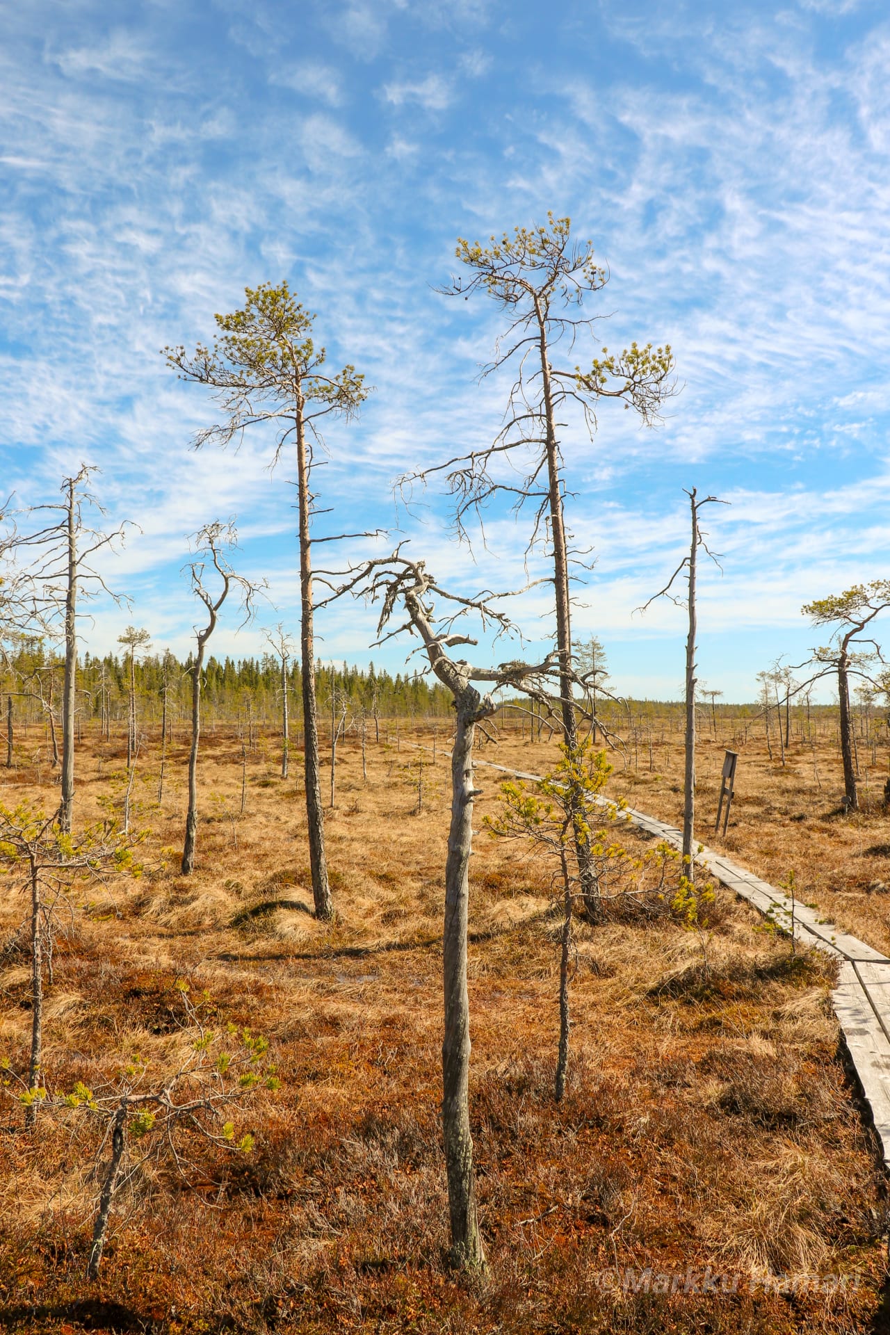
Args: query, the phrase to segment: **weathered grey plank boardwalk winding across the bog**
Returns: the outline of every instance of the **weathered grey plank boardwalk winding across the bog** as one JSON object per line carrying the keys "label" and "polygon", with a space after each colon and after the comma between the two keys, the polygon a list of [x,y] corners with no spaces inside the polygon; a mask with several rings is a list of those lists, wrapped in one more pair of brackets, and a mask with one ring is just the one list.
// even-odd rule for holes
{"label": "weathered grey plank boardwalk winding across the bog", "polygon": [[[539,774],[527,774],[491,761],[476,760],[474,764],[499,769],[504,774],[514,774],[531,782],[540,780]],[[608,804],[608,798],[599,801],[614,805]],[[664,840],[673,848],[682,848],[683,836],[677,826],[666,825],[631,808],[626,808],[626,812],[638,829]],[[722,885],[753,904],[783,932],[790,934],[794,930],[798,941],[814,945],[841,961],[838,985],[831,993],[831,1003],[862,1092],[871,1109],[885,1167],[890,1169],[890,959],[855,936],[841,932],[834,922],[826,922],[815,909],[801,904],[799,900],[791,905],[790,897],[783,890],[737,866],[723,853],[703,848],[695,862],[706,868]]]}

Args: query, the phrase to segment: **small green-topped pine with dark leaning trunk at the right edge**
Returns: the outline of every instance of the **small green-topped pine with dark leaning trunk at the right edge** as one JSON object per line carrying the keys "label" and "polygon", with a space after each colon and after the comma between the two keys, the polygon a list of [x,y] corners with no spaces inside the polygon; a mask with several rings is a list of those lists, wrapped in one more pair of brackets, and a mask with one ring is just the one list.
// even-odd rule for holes
{"label": "small green-topped pine with dark leaning trunk at the right edge", "polygon": [[[854,758],[853,714],[850,710],[850,677],[865,676],[863,666],[875,653],[857,651],[855,646],[878,646],[862,634],[875,617],[890,607],[890,579],[871,579],[867,585],[854,585],[845,593],[817,598],[803,605],[801,611],[817,626],[835,626],[829,645],[813,651],[813,662],[834,669],[838,677],[838,706],[841,713],[841,757],[843,761],[843,790],[849,810],[859,809],[857,768]],[[811,681],[825,673],[818,673]],[[873,684],[874,685],[874,684]],[[779,720],[779,728],[782,722]]]}

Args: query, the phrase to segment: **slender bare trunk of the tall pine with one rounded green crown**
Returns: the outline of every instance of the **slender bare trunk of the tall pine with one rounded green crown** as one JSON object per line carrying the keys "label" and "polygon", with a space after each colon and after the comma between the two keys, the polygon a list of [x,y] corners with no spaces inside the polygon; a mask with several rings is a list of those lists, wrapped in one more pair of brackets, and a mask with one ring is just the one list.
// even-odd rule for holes
{"label": "slender bare trunk of the tall pine with one rounded green crown", "polygon": [[296,481],[300,515],[300,668],[303,676],[303,768],[306,776],[306,821],[310,836],[310,868],[315,916],[334,914],[331,886],[324,856],[324,812],[319,772],[319,725],[315,700],[315,635],[312,625],[312,554],[310,539],[310,483],[306,458],[303,409],[296,414]]}

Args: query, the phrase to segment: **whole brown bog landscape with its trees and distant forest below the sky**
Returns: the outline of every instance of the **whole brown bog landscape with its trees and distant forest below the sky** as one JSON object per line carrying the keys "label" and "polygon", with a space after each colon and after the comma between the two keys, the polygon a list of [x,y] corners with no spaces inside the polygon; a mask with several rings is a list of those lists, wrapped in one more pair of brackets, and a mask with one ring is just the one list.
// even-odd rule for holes
{"label": "whole brown bog landscape with its trees and distant forest below the sky", "polygon": [[[682,698],[631,698],[572,627],[563,418],[656,425],[675,355],[591,343],[607,274],[567,218],[455,263],[502,319],[502,426],[392,486],[447,498],[471,582],[322,511],[320,431],[348,439],[368,388],[286,282],[164,358],[200,450],[268,445],[294,625],[228,517],[189,539],[176,657],[113,586],[104,473],[4,506],[7,1328],[886,1328],[886,1031],[837,999],[853,948],[890,955],[890,581],[806,602],[806,661],[734,704],[697,658],[723,501],[690,486],[650,599],[682,607]],[[544,569],[503,593],[502,503]],[[101,599],[113,653],[87,647]],[[316,638],[348,607],[362,668]],[[215,651],[260,625],[260,655]]]}

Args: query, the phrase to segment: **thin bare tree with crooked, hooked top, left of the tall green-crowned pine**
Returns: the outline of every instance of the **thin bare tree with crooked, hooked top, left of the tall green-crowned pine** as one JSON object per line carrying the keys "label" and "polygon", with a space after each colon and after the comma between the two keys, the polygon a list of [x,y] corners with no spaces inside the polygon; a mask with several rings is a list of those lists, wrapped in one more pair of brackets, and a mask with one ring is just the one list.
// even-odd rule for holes
{"label": "thin bare tree with crooked, hooked top, left of the tall green-crowned pine", "polygon": [[[195,841],[197,836],[197,746],[201,733],[201,674],[204,672],[204,653],[207,642],[216,629],[219,613],[230,595],[232,587],[238,589],[242,597],[242,611],[244,626],[254,615],[254,599],[263,585],[251,583],[244,575],[232,570],[227,549],[238,546],[238,534],[232,521],[228,523],[204,525],[195,534],[196,561],[191,561],[185,570],[192,586],[192,593],[207,610],[207,625],[195,627],[196,653],[189,668],[192,678],[192,744],[188,752],[188,810],[185,813],[185,838],[183,842],[181,874],[189,876],[195,868]],[[217,579],[217,591],[212,593],[207,587],[208,575]]]}

